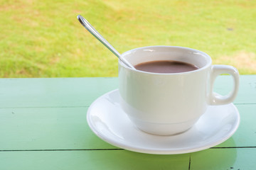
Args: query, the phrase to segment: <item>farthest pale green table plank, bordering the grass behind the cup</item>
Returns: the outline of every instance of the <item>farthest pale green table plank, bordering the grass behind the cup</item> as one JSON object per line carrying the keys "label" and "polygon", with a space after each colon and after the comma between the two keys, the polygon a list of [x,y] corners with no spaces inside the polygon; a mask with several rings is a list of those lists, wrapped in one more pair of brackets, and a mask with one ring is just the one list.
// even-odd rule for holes
{"label": "farthest pale green table plank, bordering the grass behind the cup", "polygon": [[[231,89],[228,76],[216,80],[215,90]],[[117,89],[115,78],[0,79],[0,108],[90,106],[102,94]],[[240,77],[234,103],[256,103],[256,75]]]}

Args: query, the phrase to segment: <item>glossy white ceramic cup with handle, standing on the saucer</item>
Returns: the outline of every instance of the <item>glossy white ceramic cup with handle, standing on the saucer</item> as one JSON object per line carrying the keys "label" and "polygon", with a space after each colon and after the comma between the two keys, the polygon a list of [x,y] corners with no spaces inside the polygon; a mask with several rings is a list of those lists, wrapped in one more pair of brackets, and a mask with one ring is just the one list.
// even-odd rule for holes
{"label": "glossy white ceramic cup with handle, standing on the saucer", "polygon": [[[238,93],[235,67],[212,65],[209,55],[187,47],[151,46],[122,54],[136,65],[156,60],[176,60],[199,67],[195,71],[159,74],[133,70],[119,61],[119,94],[122,109],[134,125],[154,135],[175,135],[191,128],[209,105],[231,103]],[[220,74],[233,77],[230,94],[213,92]]]}

